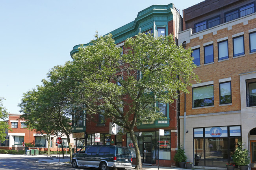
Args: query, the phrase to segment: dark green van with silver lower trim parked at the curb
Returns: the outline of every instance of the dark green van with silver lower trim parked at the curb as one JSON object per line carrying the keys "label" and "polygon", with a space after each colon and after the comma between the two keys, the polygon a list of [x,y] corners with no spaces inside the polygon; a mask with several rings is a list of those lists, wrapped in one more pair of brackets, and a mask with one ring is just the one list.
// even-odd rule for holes
{"label": "dark green van with silver lower trim parked at the curb", "polygon": [[90,145],[72,156],[72,167],[94,167],[101,170],[132,168],[132,154],[128,147],[116,145]]}

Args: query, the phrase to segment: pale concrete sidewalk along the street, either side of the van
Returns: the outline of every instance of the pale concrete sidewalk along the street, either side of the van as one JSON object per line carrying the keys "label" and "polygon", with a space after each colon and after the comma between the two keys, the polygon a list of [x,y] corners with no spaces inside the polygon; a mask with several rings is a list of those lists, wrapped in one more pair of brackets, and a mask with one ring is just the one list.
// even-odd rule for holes
{"label": "pale concrete sidewalk along the street, either side of the van", "polygon": [[[58,155],[59,156],[59,155]],[[57,165],[67,165],[71,166],[70,163],[67,163],[70,161],[69,155],[64,154],[64,159],[62,158],[62,155],[60,155],[60,158],[57,158],[57,155],[37,155],[37,156],[31,156],[31,155],[12,155],[12,154],[0,154],[0,157],[26,157],[26,158],[42,158],[41,160],[37,161],[38,163],[50,163],[50,164],[57,164]],[[48,158],[48,159],[43,159]],[[51,159],[49,159],[51,158]],[[132,165],[135,167],[135,165]],[[158,170],[158,166],[149,166],[149,165],[142,165],[143,170]],[[214,167],[212,167],[215,169]],[[159,169],[161,170],[187,170],[182,168],[176,168],[176,167],[164,167],[160,166]],[[198,169],[198,168],[192,168],[193,170],[207,170],[207,169]],[[216,168],[218,169],[218,168]],[[132,169],[131,169],[132,170]]]}

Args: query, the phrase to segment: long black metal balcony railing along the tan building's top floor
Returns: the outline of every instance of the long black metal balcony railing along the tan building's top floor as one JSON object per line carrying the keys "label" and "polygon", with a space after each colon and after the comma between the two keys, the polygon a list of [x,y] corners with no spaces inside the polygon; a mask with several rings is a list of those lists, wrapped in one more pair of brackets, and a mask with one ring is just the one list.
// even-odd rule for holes
{"label": "long black metal balcony railing along the tan building's top floor", "polygon": [[204,29],[208,29],[220,24],[223,24],[225,22],[229,22],[231,20],[235,20],[237,18],[240,18],[242,16],[246,16],[249,14],[255,13],[255,6],[241,10],[239,12],[230,12],[228,14],[226,14],[226,16],[224,18],[220,18],[220,19],[216,19],[216,20],[208,20],[210,22],[206,22],[205,24],[202,23],[202,25],[197,26],[195,28],[193,28],[193,33],[197,33],[199,31],[203,31]]}

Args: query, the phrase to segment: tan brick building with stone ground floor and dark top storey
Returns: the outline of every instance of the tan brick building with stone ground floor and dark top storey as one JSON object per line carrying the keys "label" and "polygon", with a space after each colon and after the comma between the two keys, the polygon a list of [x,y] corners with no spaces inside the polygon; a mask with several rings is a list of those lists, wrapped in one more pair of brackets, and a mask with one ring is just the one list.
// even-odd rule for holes
{"label": "tan brick building with stone ground floor and dark top storey", "polygon": [[178,42],[193,50],[201,80],[180,96],[180,141],[188,160],[224,169],[242,139],[254,169],[255,0],[205,0],[183,10],[183,27]]}

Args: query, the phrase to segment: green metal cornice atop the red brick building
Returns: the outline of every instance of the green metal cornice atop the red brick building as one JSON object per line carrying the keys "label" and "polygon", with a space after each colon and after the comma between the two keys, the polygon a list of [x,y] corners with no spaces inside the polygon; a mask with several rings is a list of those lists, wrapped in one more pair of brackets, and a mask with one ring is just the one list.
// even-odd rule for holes
{"label": "green metal cornice atop the red brick building", "polygon": [[[129,37],[134,37],[139,33],[140,28],[141,32],[152,29],[154,22],[156,22],[156,26],[167,26],[168,22],[173,20],[173,8],[173,3],[168,5],[151,5],[150,7],[140,11],[134,21],[115,29],[110,33],[113,35],[115,43],[117,44]],[[83,46],[87,46],[89,44],[90,43],[83,44]],[[78,52],[79,47],[80,45],[74,46],[72,51],[70,51],[71,57]]]}

